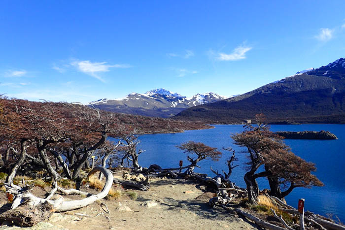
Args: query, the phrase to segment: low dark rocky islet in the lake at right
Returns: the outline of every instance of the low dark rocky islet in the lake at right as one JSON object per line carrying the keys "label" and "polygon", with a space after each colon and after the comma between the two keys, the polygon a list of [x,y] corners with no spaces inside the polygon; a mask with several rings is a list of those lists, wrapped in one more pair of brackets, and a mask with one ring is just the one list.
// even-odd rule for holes
{"label": "low dark rocky islet in the lake at right", "polygon": [[286,139],[317,139],[317,140],[335,140],[338,139],[336,135],[330,131],[277,131],[276,134],[283,136]]}

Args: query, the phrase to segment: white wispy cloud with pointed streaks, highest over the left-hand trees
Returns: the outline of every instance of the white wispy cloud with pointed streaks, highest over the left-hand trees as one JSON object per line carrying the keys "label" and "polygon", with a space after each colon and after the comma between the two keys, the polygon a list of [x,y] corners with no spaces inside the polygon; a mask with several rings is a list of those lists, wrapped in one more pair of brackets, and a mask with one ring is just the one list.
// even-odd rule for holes
{"label": "white wispy cloud with pointed streaks, highest over the left-hand trees", "polygon": [[129,68],[130,65],[127,64],[116,64],[116,65],[107,65],[106,62],[90,62],[90,61],[74,61],[70,64],[77,68],[78,71],[86,73],[92,77],[97,78],[98,80],[105,82],[104,79],[99,76],[98,73],[108,72],[110,68]]}

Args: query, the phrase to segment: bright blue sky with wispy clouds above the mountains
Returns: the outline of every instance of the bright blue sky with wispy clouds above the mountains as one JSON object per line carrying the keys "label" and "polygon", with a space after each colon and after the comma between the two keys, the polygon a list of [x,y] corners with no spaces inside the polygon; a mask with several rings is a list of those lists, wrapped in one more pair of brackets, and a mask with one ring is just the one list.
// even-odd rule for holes
{"label": "bright blue sky with wispy clouds above the mountains", "polygon": [[0,1],[0,94],[242,94],[345,57],[345,1]]}

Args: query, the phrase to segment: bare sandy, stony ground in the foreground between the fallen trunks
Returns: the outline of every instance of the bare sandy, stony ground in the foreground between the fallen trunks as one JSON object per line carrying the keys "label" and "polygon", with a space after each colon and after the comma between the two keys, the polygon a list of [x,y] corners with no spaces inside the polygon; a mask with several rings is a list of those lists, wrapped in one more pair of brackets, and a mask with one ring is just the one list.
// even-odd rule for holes
{"label": "bare sandy, stony ground in the foreground between the fallen trunks", "polygon": [[[137,193],[138,197],[135,200],[125,195],[117,200],[103,199],[81,209],[54,213],[47,221],[32,228],[0,226],[0,230],[257,229],[255,225],[226,213],[224,209],[210,208],[207,202],[213,195],[193,181],[153,177],[150,178],[150,185],[149,191],[145,192],[123,190],[123,193]],[[39,189],[36,189],[38,194]],[[0,199],[1,206],[7,202],[4,196],[2,194]],[[109,218],[101,207],[102,202],[110,211]]]}

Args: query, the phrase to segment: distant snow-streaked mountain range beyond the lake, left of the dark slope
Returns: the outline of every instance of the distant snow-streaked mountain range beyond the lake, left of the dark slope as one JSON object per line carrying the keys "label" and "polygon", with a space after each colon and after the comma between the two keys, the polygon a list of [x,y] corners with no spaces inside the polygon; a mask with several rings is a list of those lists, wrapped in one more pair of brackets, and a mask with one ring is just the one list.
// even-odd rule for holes
{"label": "distant snow-streaked mountain range beyond the lake, left of the dark slope", "polygon": [[196,94],[187,98],[169,90],[154,89],[144,94],[131,93],[122,99],[99,99],[88,105],[112,112],[168,118],[184,109],[222,99],[225,97],[215,93]]}

